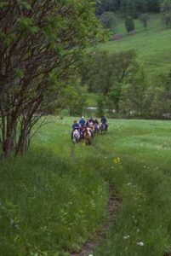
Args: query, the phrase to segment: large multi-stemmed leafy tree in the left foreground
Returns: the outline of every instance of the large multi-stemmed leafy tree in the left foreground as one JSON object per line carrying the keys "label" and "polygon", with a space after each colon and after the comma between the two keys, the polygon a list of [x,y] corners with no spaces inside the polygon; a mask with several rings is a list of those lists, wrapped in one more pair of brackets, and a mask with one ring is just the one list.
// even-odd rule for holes
{"label": "large multi-stemmed leafy tree in the left foreground", "polygon": [[99,25],[91,1],[20,0],[0,3],[0,27],[0,142],[9,155],[26,151],[48,105],[61,108]]}

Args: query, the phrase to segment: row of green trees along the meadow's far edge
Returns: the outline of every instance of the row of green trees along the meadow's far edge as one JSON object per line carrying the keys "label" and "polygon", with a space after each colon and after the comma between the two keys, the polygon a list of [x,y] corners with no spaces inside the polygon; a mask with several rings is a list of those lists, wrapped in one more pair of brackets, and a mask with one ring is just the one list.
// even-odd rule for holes
{"label": "row of green trees along the meadow's far edge", "polygon": [[84,59],[82,76],[89,92],[101,94],[99,115],[107,108],[116,111],[111,117],[171,118],[171,72],[149,79],[134,49],[94,52]]}

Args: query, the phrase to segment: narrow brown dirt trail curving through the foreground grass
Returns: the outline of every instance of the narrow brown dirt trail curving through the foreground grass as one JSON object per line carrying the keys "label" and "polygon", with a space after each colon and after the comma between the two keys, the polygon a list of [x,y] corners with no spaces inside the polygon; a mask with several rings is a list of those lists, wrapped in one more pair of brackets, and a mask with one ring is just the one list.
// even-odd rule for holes
{"label": "narrow brown dirt trail curving through the foreground grass", "polygon": [[71,252],[70,256],[88,256],[91,253],[94,247],[100,246],[100,244],[105,240],[107,232],[110,230],[111,224],[113,222],[113,218],[115,217],[115,213],[117,212],[117,207],[119,206],[120,201],[116,192],[110,187],[110,197],[108,201],[108,214],[105,219],[105,223],[101,227],[100,230],[97,230],[94,233],[94,240],[88,240],[80,250],[80,252]]}

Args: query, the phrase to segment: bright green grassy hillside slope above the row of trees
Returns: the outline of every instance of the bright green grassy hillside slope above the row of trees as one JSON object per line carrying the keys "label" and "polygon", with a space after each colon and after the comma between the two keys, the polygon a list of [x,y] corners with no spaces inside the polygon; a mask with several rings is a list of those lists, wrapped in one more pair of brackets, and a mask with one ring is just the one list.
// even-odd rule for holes
{"label": "bright green grassy hillside slope above the row of trees", "polygon": [[135,49],[138,61],[147,67],[150,73],[167,72],[171,68],[171,30],[164,29],[160,15],[150,15],[147,29],[144,29],[139,20],[135,21],[135,35],[125,32],[124,20],[117,20],[117,33],[123,38],[100,44],[100,49],[117,52],[120,50]]}

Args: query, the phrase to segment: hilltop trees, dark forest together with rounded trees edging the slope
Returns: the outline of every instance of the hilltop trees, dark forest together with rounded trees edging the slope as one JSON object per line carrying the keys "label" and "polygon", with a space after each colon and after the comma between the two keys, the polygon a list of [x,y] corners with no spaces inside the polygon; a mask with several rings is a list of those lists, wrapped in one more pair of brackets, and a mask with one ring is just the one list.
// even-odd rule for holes
{"label": "hilltop trees, dark forest together with rounded trees edging the slope", "polygon": [[[146,28],[149,16],[148,11],[160,12],[162,22],[166,28],[171,27],[171,0],[103,0],[96,4],[96,14],[105,28],[111,29],[113,32],[117,26],[116,11],[123,14],[126,21],[126,30],[131,32],[134,30],[134,20],[139,18],[142,25]],[[99,11],[98,11],[99,10]],[[104,11],[104,12],[103,12]],[[103,12],[101,14],[101,12]]]}

